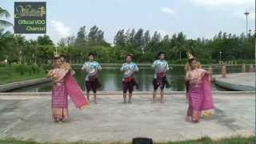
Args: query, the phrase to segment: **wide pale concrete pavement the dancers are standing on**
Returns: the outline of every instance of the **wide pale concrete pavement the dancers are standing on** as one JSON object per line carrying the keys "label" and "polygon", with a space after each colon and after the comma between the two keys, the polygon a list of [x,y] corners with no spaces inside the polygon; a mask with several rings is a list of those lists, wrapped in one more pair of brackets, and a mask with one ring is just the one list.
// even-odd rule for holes
{"label": "wide pale concrete pavement the dancers are standing on", "polygon": [[[167,94],[164,104],[151,103],[151,95],[138,93],[132,104],[122,104],[122,95],[100,94],[98,104],[76,110],[70,102],[70,121],[55,124],[50,116],[49,93],[0,94],[0,138],[53,141],[130,141],[149,137],[155,141],[223,138],[255,132],[254,93],[214,94],[215,114],[198,124],[185,122],[184,94]],[[159,98],[159,95],[158,95]]]}

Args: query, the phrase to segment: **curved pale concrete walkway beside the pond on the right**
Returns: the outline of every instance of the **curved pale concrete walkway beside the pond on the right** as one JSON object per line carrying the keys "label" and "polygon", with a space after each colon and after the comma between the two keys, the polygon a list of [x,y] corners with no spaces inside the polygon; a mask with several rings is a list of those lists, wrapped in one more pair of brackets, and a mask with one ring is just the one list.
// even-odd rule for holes
{"label": "curved pale concrete walkway beside the pond on the right", "polygon": [[215,83],[229,90],[253,91],[255,90],[255,73],[234,73],[226,74],[226,78],[221,75],[214,75]]}

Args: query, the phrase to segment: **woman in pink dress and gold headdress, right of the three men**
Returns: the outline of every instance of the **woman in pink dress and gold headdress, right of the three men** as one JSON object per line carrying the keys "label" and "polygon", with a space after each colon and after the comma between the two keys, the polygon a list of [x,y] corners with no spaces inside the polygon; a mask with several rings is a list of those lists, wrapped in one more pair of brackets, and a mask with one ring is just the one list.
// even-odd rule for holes
{"label": "woman in pink dress and gold headdress, right of the three men", "polygon": [[186,97],[189,107],[186,114],[186,121],[199,122],[202,110],[214,109],[213,96],[210,87],[211,74],[203,70],[198,60],[188,54],[188,63],[186,65]]}

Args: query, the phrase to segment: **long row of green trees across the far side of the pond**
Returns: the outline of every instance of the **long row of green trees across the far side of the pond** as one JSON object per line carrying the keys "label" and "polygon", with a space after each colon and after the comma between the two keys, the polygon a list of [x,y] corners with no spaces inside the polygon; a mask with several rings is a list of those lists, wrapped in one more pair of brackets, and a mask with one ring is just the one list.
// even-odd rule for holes
{"label": "long row of green trees across the far side of the pond", "polygon": [[[158,51],[166,52],[166,60],[171,63],[186,63],[186,52],[190,51],[202,64],[218,61],[254,63],[254,36],[235,35],[219,32],[211,39],[187,39],[183,33],[164,37],[158,31],[150,36],[149,30],[118,30],[114,46],[104,40],[104,32],[92,26],[86,33],[82,26],[76,36],[62,38],[54,46],[48,35],[36,40],[26,40],[21,34],[10,34],[0,30],[0,63],[26,63],[28,65],[49,65],[53,63],[54,51],[65,54],[70,63],[83,63],[88,54],[94,52],[98,62],[120,63],[126,54],[132,54],[134,62],[153,62]],[[220,53],[221,52],[221,53]],[[34,69],[32,69],[32,72]],[[34,72],[33,72],[34,73]]]}

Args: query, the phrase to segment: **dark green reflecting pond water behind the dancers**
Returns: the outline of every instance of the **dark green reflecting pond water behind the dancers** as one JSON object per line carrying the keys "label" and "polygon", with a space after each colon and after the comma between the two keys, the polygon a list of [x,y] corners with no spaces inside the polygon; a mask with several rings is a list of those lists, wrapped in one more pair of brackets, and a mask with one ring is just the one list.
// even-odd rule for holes
{"label": "dark green reflecting pond water behind the dancers", "polygon": [[[204,67],[208,69],[208,67]],[[102,72],[99,74],[99,81],[102,83],[102,88],[99,90],[122,90],[122,73],[120,72],[120,67],[102,67]],[[220,74],[220,66],[212,66],[214,74]],[[82,90],[85,90],[85,77],[86,74],[81,70],[80,67],[75,67],[74,78],[77,80],[79,86],[82,87]],[[237,73],[241,72],[242,66],[227,66],[228,73]],[[169,91],[183,91],[185,90],[184,82],[184,66],[172,66],[167,73],[167,78],[170,82],[170,88],[166,89]],[[148,91],[153,90],[152,80],[154,78],[154,70],[148,68],[148,66],[140,67],[140,71],[136,76],[136,81],[138,82],[139,91]],[[50,82],[35,85],[27,86],[17,90],[11,90],[12,92],[42,92],[50,91]],[[212,84],[213,90],[224,91],[225,89],[218,87]]]}

